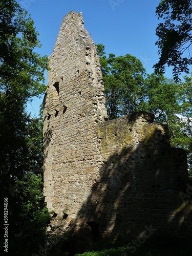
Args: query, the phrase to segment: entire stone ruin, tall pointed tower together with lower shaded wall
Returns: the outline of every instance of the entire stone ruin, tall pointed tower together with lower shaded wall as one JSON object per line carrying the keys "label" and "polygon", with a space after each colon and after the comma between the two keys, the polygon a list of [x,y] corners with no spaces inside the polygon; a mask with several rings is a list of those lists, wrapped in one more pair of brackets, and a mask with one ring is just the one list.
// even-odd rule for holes
{"label": "entire stone ruin, tall pointed tower together with lower shaded wall", "polygon": [[150,113],[106,121],[99,57],[81,13],[62,20],[49,66],[44,195],[52,224],[82,239],[91,229],[94,240],[139,237],[146,225],[191,236],[186,154]]}

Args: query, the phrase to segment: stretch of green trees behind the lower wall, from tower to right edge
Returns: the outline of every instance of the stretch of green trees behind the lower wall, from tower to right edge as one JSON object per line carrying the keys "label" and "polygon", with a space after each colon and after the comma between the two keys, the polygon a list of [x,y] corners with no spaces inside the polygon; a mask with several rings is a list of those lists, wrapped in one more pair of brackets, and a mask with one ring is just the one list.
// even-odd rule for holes
{"label": "stretch of green trees behind the lower wall, from tower to right edge", "polygon": [[136,111],[155,114],[156,121],[168,124],[172,146],[186,150],[191,169],[192,76],[176,83],[162,74],[146,75],[136,57],[130,54],[115,57],[111,53],[106,58],[101,44],[97,50],[110,119]]}

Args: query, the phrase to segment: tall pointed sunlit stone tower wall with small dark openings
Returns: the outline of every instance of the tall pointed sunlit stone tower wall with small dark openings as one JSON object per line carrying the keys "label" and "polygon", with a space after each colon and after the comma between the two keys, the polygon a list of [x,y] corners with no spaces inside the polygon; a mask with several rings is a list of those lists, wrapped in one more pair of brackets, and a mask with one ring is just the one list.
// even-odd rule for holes
{"label": "tall pointed sunlit stone tower wall with small dark openings", "polygon": [[107,118],[97,50],[81,13],[62,20],[49,57],[44,99],[44,184],[47,207],[73,218],[101,164],[96,125]]}

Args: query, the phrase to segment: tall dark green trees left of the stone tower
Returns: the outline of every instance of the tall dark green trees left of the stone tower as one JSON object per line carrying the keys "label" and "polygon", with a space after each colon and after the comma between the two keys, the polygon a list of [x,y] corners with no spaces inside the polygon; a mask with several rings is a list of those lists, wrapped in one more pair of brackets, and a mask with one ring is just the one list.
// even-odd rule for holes
{"label": "tall dark green trees left of the stone tower", "polygon": [[8,198],[9,255],[31,255],[49,219],[42,196],[42,121],[26,112],[31,97],[46,88],[47,57],[35,52],[37,37],[30,15],[15,0],[0,0],[0,193],[2,207]]}

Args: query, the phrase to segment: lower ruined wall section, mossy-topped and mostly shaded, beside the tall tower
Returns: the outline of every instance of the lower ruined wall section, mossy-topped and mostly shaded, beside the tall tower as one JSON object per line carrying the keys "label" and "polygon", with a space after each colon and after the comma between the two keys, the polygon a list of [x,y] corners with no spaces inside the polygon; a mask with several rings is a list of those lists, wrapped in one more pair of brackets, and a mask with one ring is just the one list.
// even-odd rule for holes
{"label": "lower ruined wall section, mossy-topped and mostly shaded, beside the tall tower", "polygon": [[[66,209],[67,218],[57,217],[54,224],[77,233],[82,244],[104,237],[142,238],[151,228],[156,234],[192,236],[186,153],[170,147],[167,125],[153,119],[139,112],[97,124],[102,165],[98,174],[87,176],[89,195],[82,184],[76,214]],[[79,189],[74,182],[68,199]]]}

